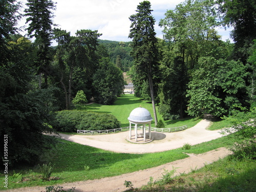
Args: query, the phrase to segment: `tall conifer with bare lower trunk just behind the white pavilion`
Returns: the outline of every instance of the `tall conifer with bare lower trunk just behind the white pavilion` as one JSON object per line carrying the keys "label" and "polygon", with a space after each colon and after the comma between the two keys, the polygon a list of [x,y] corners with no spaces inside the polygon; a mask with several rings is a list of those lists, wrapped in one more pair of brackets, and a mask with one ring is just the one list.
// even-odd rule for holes
{"label": "tall conifer with bare lower trunk just behind the white pavilion", "polygon": [[129,17],[132,22],[129,38],[133,38],[132,56],[135,62],[135,76],[139,77],[133,80],[135,86],[136,84],[137,86],[142,84],[143,80],[148,81],[155,124],[157,125],[154,81],[157,79],[159,51],[157,49],[157,38],[154,30],[155,19],[151,14],[152,11],[149,1],[143,1],[137,6],[137,13]]}

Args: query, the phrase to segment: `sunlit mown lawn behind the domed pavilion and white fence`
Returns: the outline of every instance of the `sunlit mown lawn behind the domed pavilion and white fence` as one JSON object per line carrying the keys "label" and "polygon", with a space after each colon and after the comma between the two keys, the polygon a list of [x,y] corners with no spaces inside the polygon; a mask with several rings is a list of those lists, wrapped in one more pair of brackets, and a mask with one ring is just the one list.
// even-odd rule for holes
{"label": "sunlit mown lawn behind the domed pavilion and white fence", "polygon": [[[129,121],[127,118],[129,117],[130,113],[135,109],[139,108],[139,106],[142,106],[142,108],[147,109],[151,116],[153,117],[152,126],[155,126],[154,121],[154,113],[153,113],[153,107],[152,103],[146,102],[144,100],[141,100],[138,97],[135,97],[134,94],[125,94],[119,97],[114,105],[102,105],[102,104],[89,104],[86,105],[87,111],[97,112],[97,113],[110,113],[114,115],[120,122],[121,126],[129,126]],[[161,115],[158,113],[158,106],[157,109],[157,117],[158,120],[162,119]],[[196,125],[201,119],[193,119],[191,117],[184,118],[184,119],[178,119],[178,120],[168,120],[164,121],[165,127],[176,127],[176,126],[182,126],[182,125],[188,125],[188,127],[192,127]]]}

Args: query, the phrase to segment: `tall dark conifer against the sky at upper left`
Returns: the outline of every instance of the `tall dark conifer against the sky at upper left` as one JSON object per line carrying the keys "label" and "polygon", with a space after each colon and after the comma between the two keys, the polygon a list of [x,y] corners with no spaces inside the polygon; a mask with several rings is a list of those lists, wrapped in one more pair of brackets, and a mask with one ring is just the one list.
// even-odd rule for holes
{"label": "tall dark conifer against the sky at upper left", "polygon": [[36,65],[38,66],[39,88],[41,88],[41,74],[45,75],[47,87],[47,77],[50,66],[50,45],[52,36],[53,13],[55,4],[51,0],[28,0],[28,8],[25,9],[27,23],[29,23],[28,35],[35,37],[38,45]]}

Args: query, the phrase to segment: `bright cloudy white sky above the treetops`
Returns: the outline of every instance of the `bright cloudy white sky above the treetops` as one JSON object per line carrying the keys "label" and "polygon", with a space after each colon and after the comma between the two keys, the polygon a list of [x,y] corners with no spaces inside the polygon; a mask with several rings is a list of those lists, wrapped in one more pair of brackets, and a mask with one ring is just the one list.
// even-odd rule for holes
{"label": "bright cloudy white sky above the treetops", "polygon": [[[26,0],[21,0],[26,4]],[[52,0],[56,2],[54,24],[57,28],[71,32],[75,36],[77,30],[91,29],[102,33],[100,39],[115,41],[131,41],[128,38],[131,21],[129,17],[136,13],[142,0]],[[163,38],[162,28],[158,26],[167,10],[174,10],[184,0],[151,0],[152,15],[156,20],[155,32]],[[25,19],[20,26],[25,25]],[[217,28],[222,40],[230,39],[230,30]],[[25,34],[22,33],[22,34]]]}

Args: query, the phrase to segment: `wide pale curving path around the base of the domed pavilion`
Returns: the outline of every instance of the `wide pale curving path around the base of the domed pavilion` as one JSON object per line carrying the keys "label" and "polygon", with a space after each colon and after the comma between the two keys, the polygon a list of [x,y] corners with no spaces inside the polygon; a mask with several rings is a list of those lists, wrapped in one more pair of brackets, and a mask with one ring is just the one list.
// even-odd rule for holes
{"label": "wide pale curving path around the base of the domed pavilion", "polygon": [[155,153],[182,147],[184,143],[195,145],[222,137],[220,131],[206,128],[210,121],[203,119],[194,127],[173,133],[152,132],[154,141],[144,144],[130,143],[126,140],[129,132],[104,135],[67,135],[59,134],[62,139],[101,148],[117,153]]}

